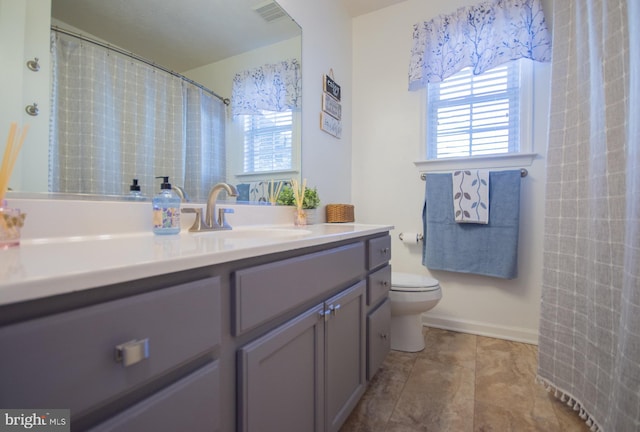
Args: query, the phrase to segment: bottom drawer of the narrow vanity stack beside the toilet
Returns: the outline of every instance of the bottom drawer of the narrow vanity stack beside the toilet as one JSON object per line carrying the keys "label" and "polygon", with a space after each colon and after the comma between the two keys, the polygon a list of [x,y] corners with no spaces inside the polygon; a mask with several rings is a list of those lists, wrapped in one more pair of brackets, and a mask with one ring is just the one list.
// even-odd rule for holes
{"label": "bottom drawer of the narrow vanity stack beside the toilet", "polygon": [[391,350],[391,300],[367,316],[367,380],[376,374]]}

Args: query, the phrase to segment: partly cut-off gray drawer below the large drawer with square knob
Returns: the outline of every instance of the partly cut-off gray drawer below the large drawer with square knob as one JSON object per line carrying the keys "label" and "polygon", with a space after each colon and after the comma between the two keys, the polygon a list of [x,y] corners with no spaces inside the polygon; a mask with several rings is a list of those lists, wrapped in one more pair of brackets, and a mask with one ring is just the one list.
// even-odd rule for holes
{"label": "partly cut-off gray drawer below the large drawer with square knob", "polygon": [[218,362],[199,369],[135,404],[91,432],[175,432],[220,430]]}

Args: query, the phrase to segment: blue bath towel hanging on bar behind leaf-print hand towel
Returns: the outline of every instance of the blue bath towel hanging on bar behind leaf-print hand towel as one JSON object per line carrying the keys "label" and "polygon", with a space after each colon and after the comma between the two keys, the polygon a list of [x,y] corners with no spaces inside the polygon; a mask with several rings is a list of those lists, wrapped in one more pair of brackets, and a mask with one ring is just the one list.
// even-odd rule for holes
{"label": "blue bath towel hanging on bar behind leaf-print hand towel", "polygon": [[520,171],[489,173],[489,223],[454,220],[451,174],[427,174],[422,264],[433,270],[518,276]]}

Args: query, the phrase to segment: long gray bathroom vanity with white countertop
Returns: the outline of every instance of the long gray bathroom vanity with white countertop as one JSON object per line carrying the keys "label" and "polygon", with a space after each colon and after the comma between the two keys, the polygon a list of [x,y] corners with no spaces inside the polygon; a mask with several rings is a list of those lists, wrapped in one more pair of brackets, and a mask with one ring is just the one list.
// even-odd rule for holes
{"label": "long gray bathroom vanity with white countertop", "polygon": [[72,431],[337,431],[389,351],[390,229],[0,251],[0,407],[70,409]]}

